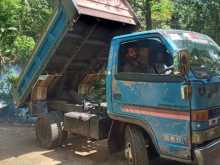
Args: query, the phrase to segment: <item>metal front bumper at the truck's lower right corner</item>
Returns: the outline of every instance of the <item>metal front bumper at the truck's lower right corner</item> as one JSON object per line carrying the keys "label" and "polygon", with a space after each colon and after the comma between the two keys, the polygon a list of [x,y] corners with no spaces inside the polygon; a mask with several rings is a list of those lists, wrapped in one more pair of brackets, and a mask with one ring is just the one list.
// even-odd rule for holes
{"label": "metal front bumper at the truck's lower right corner", "polygon": [[220,139],[194,150],[199,165],[220,165]]}

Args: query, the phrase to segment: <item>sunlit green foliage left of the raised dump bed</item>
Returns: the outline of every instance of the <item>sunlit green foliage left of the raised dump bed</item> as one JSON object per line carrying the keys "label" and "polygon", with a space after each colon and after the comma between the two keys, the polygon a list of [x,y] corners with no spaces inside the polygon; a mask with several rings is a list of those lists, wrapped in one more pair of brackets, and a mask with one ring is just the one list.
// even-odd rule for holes
{"label": "sunlit green foliage left of the raised dump bed", "polygon": [[0,0],[0,64],[24,64],[52,13],[50,0]]}

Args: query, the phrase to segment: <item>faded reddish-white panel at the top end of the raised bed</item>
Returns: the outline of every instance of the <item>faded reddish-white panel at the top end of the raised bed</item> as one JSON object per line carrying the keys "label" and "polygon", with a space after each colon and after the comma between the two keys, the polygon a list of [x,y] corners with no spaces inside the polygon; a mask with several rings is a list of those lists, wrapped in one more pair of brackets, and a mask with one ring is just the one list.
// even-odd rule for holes
{"label": "faded reddish-white panel at the top end of the raised bed", "polygon": [[80,14],[136,25],[138,20],[126,0],[75,0]]}

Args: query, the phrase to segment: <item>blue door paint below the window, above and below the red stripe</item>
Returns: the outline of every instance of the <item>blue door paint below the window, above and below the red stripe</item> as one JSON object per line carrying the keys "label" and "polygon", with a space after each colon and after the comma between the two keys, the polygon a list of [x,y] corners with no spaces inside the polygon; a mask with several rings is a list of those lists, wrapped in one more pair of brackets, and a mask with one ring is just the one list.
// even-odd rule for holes
{"label": "blue door paint below the window, above and below the red stripe", "polygon": [[[155,111],[163,111],[163,107],[174,109],[179,112],[189,112],[188,101],[181,99],[180,88],[182,83],[148,83],[138,82],[133,85],[126,84],[116,80],[116,91],[122,93],[121,100],[113,99],[112,113],[120,116],[130,116],[140,121],[148,123],[157,138],[161,154],[179,158],[190,159],[190,121],[163,118],[160,116],[151,116],[138,113],[129,113],[123,111],[124,105],[141,106],[156,108]],[[160,109],[159,109],[160,108]],[[163,140],[163,136],[178,136],[183,143],[173,144]],[[179,150],[175,153],[174,151]],[[180,153],[178,155],[178,153]]]}

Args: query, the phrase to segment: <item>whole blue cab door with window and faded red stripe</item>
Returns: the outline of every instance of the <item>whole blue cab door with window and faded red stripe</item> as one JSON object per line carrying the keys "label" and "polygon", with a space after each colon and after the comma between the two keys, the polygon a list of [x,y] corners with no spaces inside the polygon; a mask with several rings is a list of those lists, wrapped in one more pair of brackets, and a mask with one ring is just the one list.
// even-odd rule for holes
{"label": "whole blue cab door with window and faded red stripe", "polygon": [[[173,65],[171,46],[159,34],[121,39],[118,45],[112,77],[112,115],[150,127],[161,156],[190,160],[190,100],[181,95],[184,78],[167,69]],[[150,49],[148,59],[145,57],[148,64],[143,63],[153,69],[124,70],[130,48],[140,52]]]}

